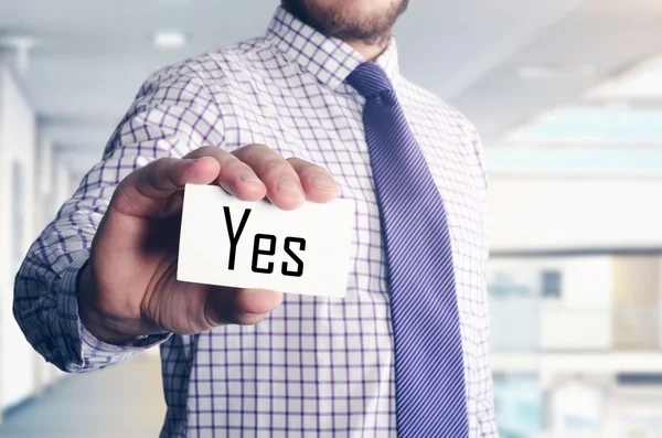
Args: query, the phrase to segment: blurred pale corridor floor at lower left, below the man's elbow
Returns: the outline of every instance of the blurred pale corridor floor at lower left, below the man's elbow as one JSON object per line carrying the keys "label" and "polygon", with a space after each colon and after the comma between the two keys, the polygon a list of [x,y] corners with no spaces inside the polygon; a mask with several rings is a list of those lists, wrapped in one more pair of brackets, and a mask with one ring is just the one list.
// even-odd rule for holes
{"label": "blurred pale corridor floor at lower left, below the man's elbow", "polygon": [[154,438],[166,414],[157,355],[67,375],[4,414],[0,438]]}

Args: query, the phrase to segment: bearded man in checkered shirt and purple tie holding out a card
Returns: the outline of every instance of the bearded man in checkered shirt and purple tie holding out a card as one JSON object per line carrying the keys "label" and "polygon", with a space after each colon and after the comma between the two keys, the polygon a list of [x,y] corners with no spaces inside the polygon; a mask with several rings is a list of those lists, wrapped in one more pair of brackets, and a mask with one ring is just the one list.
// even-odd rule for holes
{"label": "bearded man in checkered shirt and purple tie holding out a card", "polygon": [[[19,273],[34,348],[86,372],[161,344],[162,437],[495,437],[479,139],[398,73],[406,6],[286,0],[152,75]],[[185,183],[352,200],[346,298],[177,281]]]}

